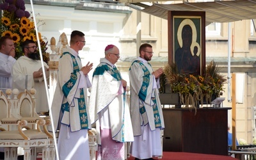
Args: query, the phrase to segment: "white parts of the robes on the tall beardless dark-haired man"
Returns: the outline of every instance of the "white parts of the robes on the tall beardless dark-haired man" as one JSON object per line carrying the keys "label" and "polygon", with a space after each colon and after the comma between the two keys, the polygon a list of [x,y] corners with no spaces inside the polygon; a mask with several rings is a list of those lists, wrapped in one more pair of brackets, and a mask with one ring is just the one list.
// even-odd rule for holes
{"label": "white parts of the robes on the tall beardless dark-haired man", "polygon": [[[78,53],[74,51],[74,49],[68,47],[67,49],[63,49],[63,52],[72,54],[76,58],[79,68],[83,67]],[[82,71],[76,72],[77,81],[75,84],[72,84],[73,87],[68,97],[65,97],[62,91],[63,85],[70,80],[71,74],[74,73],[73,60],[70,54],[65,54],[60,58],[57,85],[51,105],[54,131],[56,131],[57,128],[60,129],[58,154],[60,160],[68,158],[90,159],[88,130],[81,129],[79,102],[77,99],[80,98],[80,89],[83,88],[86,112],[88,113],[87,88],[91,86],[91,83],[88,76],[85,77]],[[61,105],[67,102],[68,105],[70,105],[70,112],[65,113],[65,116],[63,116],[61,113]],[[88,128],[91,128],[89,114],[86,119],[88,120]]]}

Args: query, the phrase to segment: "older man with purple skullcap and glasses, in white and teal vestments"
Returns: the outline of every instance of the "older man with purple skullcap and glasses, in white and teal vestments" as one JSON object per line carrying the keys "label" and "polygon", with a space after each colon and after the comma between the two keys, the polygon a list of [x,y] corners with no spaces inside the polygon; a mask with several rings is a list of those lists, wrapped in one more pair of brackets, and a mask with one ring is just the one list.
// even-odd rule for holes
{"label": "older man with purple skullcap and glasses, in white and teal vestments", "polygon": [[89,111],[92,124],[97,121],[97,159],[125,159],[124,143],[134,140],[125,95],[127,82],[115,67],[119,58],[119,49],[108,45],[105,58],[93,72]]}

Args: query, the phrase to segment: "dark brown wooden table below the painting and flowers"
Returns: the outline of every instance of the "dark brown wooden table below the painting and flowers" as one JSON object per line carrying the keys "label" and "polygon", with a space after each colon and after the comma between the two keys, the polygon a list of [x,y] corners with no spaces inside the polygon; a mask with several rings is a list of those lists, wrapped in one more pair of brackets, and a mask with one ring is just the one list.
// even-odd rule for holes
{"label": "dark brown wooden table below the painting and flowers", "polygon": [[163,151],[227,156],[228,109],[163,108]]}

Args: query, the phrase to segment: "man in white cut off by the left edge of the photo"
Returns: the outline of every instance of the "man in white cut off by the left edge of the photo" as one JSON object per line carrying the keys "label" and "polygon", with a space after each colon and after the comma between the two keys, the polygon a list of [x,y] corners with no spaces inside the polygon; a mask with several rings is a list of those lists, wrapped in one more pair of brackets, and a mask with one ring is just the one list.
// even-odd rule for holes
{"label": "man in white cut off by the left edge of the photo", "polygon": [[12,89],[12,67],[15,63],[15,47],[12,37],[0,38],[0,90]]}

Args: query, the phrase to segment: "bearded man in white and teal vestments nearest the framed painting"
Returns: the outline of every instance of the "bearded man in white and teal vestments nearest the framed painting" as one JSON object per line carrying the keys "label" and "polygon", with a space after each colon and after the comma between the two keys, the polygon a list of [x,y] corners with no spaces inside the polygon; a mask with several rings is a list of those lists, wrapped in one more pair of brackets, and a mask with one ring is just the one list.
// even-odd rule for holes
{"label": "bearded man in white and teal vestments nearest the framed painting", "polygon": [[154,71],[148,63],[153,56],[152,45],[142,44],[139,51],[140,57],[129,69],[134,134],[131,154],[135,159],[153,159],[163,154],[160,130],[164,129],[164,118],[158,91],[163,69]]}

